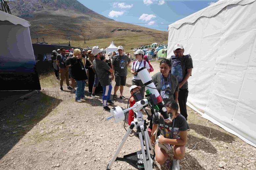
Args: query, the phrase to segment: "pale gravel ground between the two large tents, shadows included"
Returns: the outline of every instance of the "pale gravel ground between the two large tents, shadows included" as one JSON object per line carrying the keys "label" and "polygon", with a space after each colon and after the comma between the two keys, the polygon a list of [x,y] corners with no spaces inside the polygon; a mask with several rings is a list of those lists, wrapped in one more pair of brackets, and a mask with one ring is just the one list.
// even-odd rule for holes
{"label": "pale gravel ground between the two large tents, shadows included", "polygon": [[[155,72],[159,63],[151,62]],[[124,96],[129,98],[131,76],[127,77]],[[42,92],[34,94],[0,111],[0,169],[106,169],[121,142],[123,123],[114,123],[101,106],[101,97],[92,99],[86,87],[83,103],[74,101],[75,94],[59,91],[53,75],[41,77]],[[112,92],[113,94],[113,92]],[[119,93],[117,93],[119,94]],[[127,107],[127,100],[117,99],[113,106]],[[222,128],[208,122],[188,109],[186,153],[180,169],[189,170],[255,170],[256,149]],[[146,115],[144,115],[146,118]],[[126,127],[127,124],[126,124]],[[129,137],[119,157],[140,150],[139,139]],[[172,154],[172,153],[171,153]],[[172,156],[165,165],[155,169],[170,169]],[[113,170],[135,169],[126,162],[115,162]]]}

